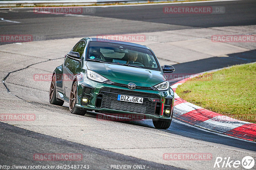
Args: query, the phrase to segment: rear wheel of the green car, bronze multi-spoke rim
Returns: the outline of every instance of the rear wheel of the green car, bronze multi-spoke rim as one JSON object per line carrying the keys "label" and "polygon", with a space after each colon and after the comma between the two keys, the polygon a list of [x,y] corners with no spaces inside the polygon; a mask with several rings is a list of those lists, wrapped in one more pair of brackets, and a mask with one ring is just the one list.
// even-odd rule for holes
{"label": "rear wheel of the green car, bronze multi-spoke rim", "polygon": [[55,76],[55,74],[52,76],[52,82],[51,82],[50,91],[49,91],[49,102],[51,104],[55,104],[58,106],[62,106],[64,104],[63,100],[56,98],[56,76]]}

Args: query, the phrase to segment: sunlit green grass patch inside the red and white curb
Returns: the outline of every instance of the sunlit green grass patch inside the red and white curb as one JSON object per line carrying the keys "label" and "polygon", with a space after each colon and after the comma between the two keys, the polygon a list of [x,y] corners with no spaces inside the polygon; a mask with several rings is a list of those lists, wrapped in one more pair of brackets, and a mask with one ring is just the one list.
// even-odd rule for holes
{"label": "sunlit green grass patch inside the red and white curb", "polygon": [[178,86],[176,93],[205,109],[256,123],[256,63],[195,77]]}

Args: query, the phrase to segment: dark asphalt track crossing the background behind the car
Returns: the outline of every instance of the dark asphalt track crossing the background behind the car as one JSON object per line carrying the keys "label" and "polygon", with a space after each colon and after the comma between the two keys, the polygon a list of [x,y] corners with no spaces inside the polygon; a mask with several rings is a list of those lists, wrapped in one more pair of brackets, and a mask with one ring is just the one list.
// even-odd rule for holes
{"label": "dark asphalt track crossing the background behind the car", "polygon": [[[224,14],[164,14],[164,6],[224,6]],[[32,9],[1,9],[1,18],[21,24],[1,22],[1,34],[29,34],[43,40],[155,32],[216,26],[256,24],[256,3],[224,1],[195,4],[97,7],[75,15],[38,14]],[[85,16],[85,17],[81,17]],[[103,18],[102,18],[103,17]],[[40,40],[40,39],[39,39]],[[4,43],[3,43],[4,44]]]}

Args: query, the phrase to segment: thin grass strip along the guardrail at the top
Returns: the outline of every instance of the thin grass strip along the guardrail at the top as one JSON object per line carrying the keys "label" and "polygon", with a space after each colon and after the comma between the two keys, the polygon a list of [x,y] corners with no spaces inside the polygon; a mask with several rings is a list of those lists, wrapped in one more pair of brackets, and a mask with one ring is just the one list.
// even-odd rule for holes
{"label": "thin grass strip along the guardrail at the top", "polygon": [[11,8],[11,7],[68,7],[68,6],[101,6],[101,5],[132,5],[132,4],[161,4],[161,3],[175,3],[175,2],[193,2],[193,1],[213,1],[213,0],[184,0],[184,1],[163,1],[163,2],[150,2],[148,3],[109,3],[109,4],[91,4],[91,5],[40,5],[35,4],[33,6],[23,6],[22,4],[16,4],[16,6],[0,6],[0,8]]}

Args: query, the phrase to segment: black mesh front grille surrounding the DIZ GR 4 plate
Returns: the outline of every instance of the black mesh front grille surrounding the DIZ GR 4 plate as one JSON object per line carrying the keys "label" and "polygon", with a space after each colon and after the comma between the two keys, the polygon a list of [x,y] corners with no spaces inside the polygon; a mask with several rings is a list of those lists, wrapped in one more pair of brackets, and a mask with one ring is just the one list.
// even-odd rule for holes
{"label": "black mesh front grille surrounding the DIZ GR 4 plate", "polygon": [[[157,102],[151,102],[148,98],[160,100],[160,96],[157,94],[124,89],[102,88],[100,94],[103,94],[101,108],[151,115],[155,114]],[[118,101],[117,95],[143,97],[143,103]],[[156,113],[156,115],[159,115],[159,113]]]}

